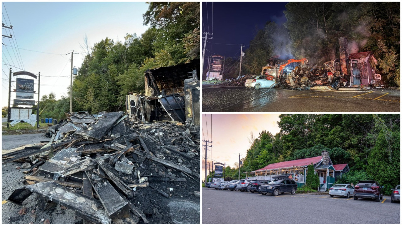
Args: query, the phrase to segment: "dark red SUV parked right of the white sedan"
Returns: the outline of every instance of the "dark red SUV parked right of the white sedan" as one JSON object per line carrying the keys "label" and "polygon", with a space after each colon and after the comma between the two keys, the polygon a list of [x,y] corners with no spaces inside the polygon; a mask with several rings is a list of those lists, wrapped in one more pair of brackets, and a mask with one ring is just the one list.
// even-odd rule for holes
{"label": "dark red SUV parked right of the white sedan", "polygon": [[355,185],[355,191],[353,192],[353,199],[358,198],[371,198],[379,202],[382,199],[382,188],[377,181],[359,181]]}

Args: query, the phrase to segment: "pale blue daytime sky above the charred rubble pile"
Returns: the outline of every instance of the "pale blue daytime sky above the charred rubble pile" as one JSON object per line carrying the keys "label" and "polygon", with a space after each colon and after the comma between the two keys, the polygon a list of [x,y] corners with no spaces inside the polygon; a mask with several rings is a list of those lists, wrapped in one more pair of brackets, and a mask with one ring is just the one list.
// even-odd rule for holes
{"label": "pale blue daytime sky above the charred rubble pile", "polygon": [[[41,72],[41,96],[55,92],[59,99],[68,95],[71,54],[46,53],[66,54],[74,50],[80,53],[74,54],[73,61],[74,66],[79,68],[85,56],[80,47],[85,35],[90,46],[106,37],[124,41],[127,33],[141,35],[148,28],[143,25],[142,17],[147,9],[145,2],[4,2],[2,23],[12,25],[14,33],[2,29],[2,34],[12,34],[14,42],[2,38],[2,43],[7,45],[2,45],[2,61],[35,74]],[[46,53],[18,51],[12,47],[17,44],[19,48]],[[20,53],[22,63],[17,60]],[[10,68],[3,64],[2,70],[6,74],[2,71],[2,107],[7,106]],[[24,67],[20,67],[22,64]],[[18,68],[12,67],[12,71],[21,71]],[[15,78],[12,80],[15,81]],[[12,82],[12,89],[14,86],[15,82]],[[34,98],[37,99],[37,95]],[[15,99],[15,93],[12,93],[11,99]]]}

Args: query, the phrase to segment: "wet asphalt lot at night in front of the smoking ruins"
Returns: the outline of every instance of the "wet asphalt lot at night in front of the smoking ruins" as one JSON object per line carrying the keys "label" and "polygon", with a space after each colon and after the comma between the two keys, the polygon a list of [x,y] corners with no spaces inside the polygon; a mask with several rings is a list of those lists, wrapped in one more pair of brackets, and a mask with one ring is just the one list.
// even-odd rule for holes
{"label": "wet asphalt lot at night in front of the smoking ruins", "polygon": [[400,112],[399,90],[202,90],[203,112]]}

